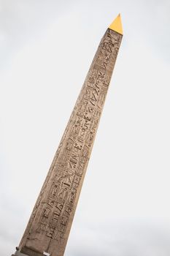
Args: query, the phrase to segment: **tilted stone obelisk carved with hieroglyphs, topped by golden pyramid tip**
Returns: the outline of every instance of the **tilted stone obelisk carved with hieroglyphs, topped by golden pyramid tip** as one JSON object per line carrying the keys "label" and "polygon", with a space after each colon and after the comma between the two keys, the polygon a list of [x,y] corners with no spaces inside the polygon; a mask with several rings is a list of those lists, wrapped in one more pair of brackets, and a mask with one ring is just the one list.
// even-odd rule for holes
{"label": "tilted stone obelisk carved with hieroglyphs, topped by golden pyramid tip", "polygon": [[101,39],[15,255],[64,254],[122,37],[118,15]]}

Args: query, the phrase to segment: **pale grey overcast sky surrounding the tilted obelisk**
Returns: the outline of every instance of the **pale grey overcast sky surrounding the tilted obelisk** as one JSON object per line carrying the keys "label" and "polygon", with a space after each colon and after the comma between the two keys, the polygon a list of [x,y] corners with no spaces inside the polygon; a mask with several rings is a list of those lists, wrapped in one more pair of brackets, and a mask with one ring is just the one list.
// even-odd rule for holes
{"label": "pale grey overcast sky surrounding the tilted obelisk", "polygon": [[119,12],[123,41],[65,255],[170,255],[170,1],[0,0],[1,256],[23,236]]}

